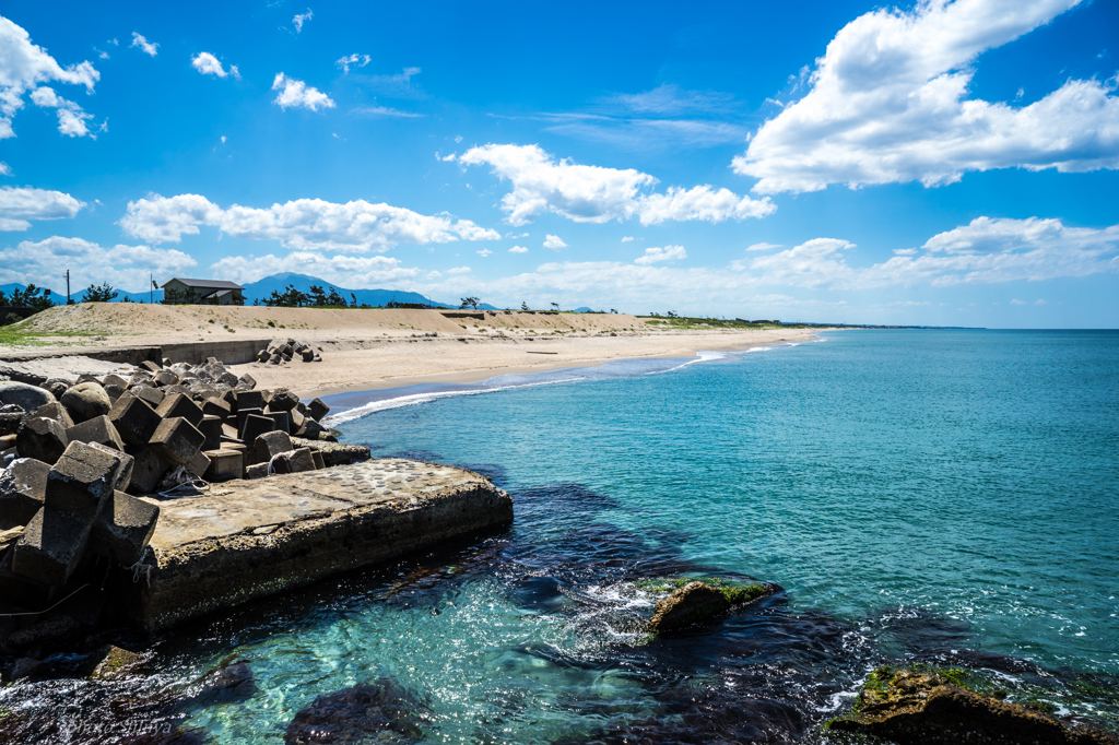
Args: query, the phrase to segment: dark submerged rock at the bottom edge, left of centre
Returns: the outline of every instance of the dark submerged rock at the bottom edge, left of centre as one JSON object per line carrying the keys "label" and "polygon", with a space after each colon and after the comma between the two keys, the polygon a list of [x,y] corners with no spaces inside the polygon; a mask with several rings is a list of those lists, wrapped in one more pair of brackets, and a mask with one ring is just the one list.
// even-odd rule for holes
{"label": "dark submerged rock at the bottom edge, left of centre", "polygon": [[380,679],[319,696],[294,716],[285,745],[419,743],[425,709],[399,683]]}

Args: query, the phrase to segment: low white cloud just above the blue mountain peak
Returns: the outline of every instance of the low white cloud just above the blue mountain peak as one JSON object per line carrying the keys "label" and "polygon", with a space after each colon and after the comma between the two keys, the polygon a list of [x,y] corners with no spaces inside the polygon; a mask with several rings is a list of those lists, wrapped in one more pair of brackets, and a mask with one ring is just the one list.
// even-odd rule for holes
{"label": "low white cloud just above the blue mountain peak", "polygon": [[308,251],[285,256],[227,256],[211,264],[210,270],[214,276],[233,282],[255,282],[280,272],[298,272],[345,287],[368,287],[420,275],[420,270],[401,266],[392,256],[325,256]]}

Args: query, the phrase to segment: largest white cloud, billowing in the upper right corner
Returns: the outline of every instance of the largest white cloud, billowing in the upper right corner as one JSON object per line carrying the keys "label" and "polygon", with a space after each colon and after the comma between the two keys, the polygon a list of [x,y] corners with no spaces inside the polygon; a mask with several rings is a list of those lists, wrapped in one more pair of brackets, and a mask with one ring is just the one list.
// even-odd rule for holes
{"label": "largest white cloud, billowing in the upper right corner", "polygon": [[1069,79],[1024,107],[968,98],[981,53],[1080,0],[925,0],[844,27],[816,60],[811,91],[768,121],[734,159],[754,191],[814,191],[966,171],[1119,168],[1115,79]]}

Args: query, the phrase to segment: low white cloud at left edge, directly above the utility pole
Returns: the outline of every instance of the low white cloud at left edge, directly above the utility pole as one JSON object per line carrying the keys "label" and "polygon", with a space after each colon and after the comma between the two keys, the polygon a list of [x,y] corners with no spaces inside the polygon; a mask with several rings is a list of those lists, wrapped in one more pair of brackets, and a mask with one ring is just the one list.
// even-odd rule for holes
{"label": "low white cloud at left edge, directly above the utility pole", "polygon": [[82,238],[53,236],[0,249],[0,282],[34,282],[57,292],[69,268],[77,295],[78,287],[102,282],[137,291],[149,286],[149,273],[169,279],[195,264],[194,258],[173,248],[100,246]]}

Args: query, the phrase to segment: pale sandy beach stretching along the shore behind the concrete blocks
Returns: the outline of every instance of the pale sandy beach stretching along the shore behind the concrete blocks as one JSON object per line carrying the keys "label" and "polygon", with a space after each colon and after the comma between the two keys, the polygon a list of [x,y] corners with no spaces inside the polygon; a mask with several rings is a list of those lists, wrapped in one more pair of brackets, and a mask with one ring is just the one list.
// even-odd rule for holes
{"label": "pale sandy beach stretching along the shore behind the concrete blocks", "polygon": [[[815,330],[668,329],[629,314],[458,312],[386,309],[292,309],[82,303],[57,307],[19,324],[35,347],[0,347],[0,357],[36,355],[10,365],[43,374],[104,375],[83,352],[105,347],[235,339],[298,339],[322,350],[321,362],[233,366],[265,388],[303,398],[417,383],[479,383],[507,372],[599,365],[612,359],[695,357],[815,338]],[[75,336],[77,334],[77,336]],[[57,355],[65,352],[67,357]],[[54,356],[54,357],[51,357]],[[57,369],[56,369],[57,368]]]}

